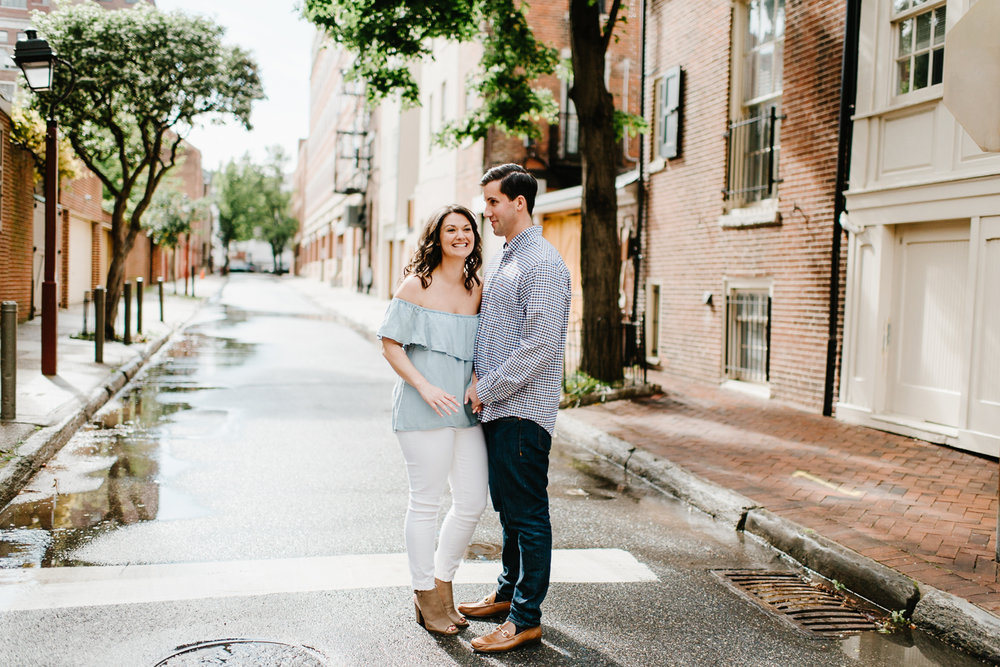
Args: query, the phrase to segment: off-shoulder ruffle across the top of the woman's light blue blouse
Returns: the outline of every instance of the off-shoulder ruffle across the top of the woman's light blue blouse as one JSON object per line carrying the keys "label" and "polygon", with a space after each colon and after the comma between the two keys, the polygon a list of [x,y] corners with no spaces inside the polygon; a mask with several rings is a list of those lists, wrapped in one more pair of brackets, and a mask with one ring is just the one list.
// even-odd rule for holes
{"label": "off-shoulder ruffle across the top of the woman's light blue blouse", "polygon": [[462,361],[472,361],[478,327],[478,315],[430,310],[393,299],[375,335],[390,338],[404,347],[419,345]]}

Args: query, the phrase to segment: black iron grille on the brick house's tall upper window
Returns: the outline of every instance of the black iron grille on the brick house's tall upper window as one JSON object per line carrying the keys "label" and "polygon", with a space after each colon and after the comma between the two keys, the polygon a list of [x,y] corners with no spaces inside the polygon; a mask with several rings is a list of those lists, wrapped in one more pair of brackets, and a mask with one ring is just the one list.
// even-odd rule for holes
{"label": "black iron grille on the brick house's tall upper window", "polygon": [[726,132],[726,189],[723,193],[733,208],[746,206],[774,195],[779,153],[779,122],[785,116],[775,106],[729,124]]}

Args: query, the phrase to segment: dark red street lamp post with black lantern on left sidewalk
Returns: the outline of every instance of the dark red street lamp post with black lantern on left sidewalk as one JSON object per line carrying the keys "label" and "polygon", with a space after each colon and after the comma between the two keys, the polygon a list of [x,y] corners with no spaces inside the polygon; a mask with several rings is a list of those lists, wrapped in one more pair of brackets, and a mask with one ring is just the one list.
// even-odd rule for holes
{"label": "dark red street lamp post with black lantern on left sidewalk", "polygon": [[14,47],[14,62],[36,93],[52,90],[56,64],[67,66],[73,75],[63,97],[49,101],[45,124],[45,272],[42,280],[42,374],[56,374],[56,203],[59,198],[58,128],[55,106],[73,90],[75,72],[69,62],[52,51],[49,43],[34,30]]}

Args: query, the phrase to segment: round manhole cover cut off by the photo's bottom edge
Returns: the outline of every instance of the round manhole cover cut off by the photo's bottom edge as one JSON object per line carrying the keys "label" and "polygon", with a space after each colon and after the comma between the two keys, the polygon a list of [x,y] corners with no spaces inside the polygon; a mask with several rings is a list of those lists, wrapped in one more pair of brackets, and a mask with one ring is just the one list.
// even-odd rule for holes
{"label": "round manhole cover cut off by the photo's bottom edge", "polygon": [[156,667],[323,667],[326,661],[316,649],[266,639],[214,639],[186,646],[156,663]]}

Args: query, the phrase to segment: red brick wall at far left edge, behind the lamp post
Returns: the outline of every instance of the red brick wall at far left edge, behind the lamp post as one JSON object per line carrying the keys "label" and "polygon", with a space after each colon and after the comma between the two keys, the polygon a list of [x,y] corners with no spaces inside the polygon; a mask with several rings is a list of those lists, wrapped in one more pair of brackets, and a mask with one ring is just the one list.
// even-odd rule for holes
{"label": "red brick wall at far left edge, behind the lamp post", "polygon": [[16,301],[18,320],[23,321],[31,303],[33,162],[27,152],[11,145],[10,118],[2,112],[0,135],[0,301]]}

